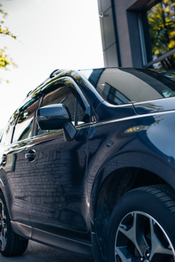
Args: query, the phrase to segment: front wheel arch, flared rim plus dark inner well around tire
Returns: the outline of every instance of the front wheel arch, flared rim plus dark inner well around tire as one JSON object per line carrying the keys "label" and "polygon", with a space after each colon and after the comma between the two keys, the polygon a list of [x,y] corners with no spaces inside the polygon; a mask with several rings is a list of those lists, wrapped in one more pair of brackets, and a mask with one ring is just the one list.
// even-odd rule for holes
{"label": "front wheel arch, flared rim plus dark inner well around tire", "polygon": [[[166,159],[150,154],[127,152],[111,158],[96,174],[91,191],[91,220],[103,253],[110,216],[118,199],[131,189],[155,184],[172,184],[175,168]],[[174,182],[173,182],[174,183]]]}

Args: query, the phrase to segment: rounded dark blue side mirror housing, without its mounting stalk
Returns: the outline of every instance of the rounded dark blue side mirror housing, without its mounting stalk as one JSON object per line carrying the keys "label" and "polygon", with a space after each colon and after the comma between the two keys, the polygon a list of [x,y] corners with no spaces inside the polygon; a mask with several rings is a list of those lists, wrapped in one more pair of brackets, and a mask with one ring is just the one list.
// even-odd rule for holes
{"label": "rounded dark blue side mirror housing, without its mounting stalk", "polygon": [[61,129],[71,118],[64,104],[49,104],[37,110],[36,121],[42,130],[54,130]]}

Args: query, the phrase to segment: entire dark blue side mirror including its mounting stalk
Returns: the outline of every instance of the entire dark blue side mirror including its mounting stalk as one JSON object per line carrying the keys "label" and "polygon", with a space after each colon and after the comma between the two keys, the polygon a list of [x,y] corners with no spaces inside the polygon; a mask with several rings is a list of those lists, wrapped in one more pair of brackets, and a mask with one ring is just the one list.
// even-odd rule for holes
{"label": "entire dark blue side mirror including its mounting stalk", "polygon": [[63,128],[65,141],[71,141],[77,133],[64,104],[49,104],[39,108],[36,112],[36,121],[42,130]]}

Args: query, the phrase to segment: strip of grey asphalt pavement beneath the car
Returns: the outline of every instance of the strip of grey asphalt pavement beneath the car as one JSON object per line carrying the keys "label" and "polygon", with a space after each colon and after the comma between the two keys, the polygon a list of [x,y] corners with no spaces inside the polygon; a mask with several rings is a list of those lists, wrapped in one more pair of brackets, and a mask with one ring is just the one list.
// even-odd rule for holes
{"label": "strip of grey asphalt pavement beneath the car", "polygon": [[26,252],[19,257],[7,258],[0,255],[1,262],[93,262],[70,253],[55,250],[41,243],[29,241]]}

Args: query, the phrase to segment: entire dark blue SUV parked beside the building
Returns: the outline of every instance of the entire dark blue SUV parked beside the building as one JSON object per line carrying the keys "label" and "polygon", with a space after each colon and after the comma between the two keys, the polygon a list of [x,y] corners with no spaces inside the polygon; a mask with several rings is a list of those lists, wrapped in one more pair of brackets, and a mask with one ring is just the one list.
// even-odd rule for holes
{"label": "entire dark blue SUV parked beside the building", "polygon": [[1,138],[2,254],[32,239],[95,261],[174,261],[173,96],[173,72],[134,68],[56,70],[31,91]]}

